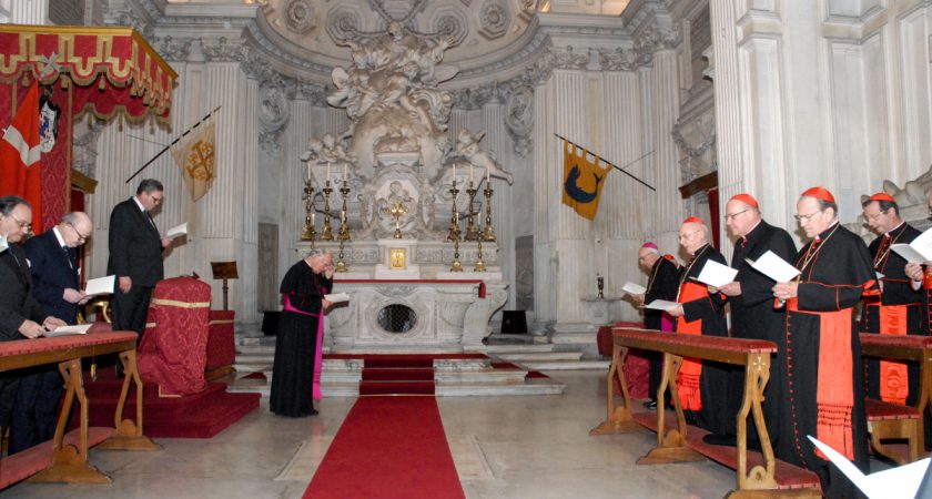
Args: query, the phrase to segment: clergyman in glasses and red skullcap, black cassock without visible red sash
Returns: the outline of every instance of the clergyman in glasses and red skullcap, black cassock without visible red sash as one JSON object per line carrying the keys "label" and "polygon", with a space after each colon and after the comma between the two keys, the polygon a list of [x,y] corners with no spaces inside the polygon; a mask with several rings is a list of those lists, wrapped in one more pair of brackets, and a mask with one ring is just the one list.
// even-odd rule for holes
{"label": "clergyman in glasses and red skullcap, black cassock without visible red sash", "polygon": [[[731,254],[731,267],[738,269],[735,282],[721,288],[710,287],[709,291],[720,292],[731,304],[731,336],[735,338],[766,339],[777,344],[777,357],[770,364],[770,379],[781,379],[787,356],[787,339],[784,325],[787,312],[783,307],[774,309],[773,281],[754,271],[747,262],[756,261],[768,251],[787,262],[796,257],[796,244],[787,231],[774,227],[761,218],[758,202],[750,194],[738,194],[725,205],[725,224],[735,237],[735,253]],[[737,416],[741,407],[740,396],[744,386],[744,369],[735,369],[730,380],[731,388],[728,399],[729,417]],[[788,396],[781,393],[779,383],[767,386],[763,404],[763,417],[769,430],[769,437],[774,442],[777,419],[780,415],[779,404]],[[748,419],[748,439],[752,446],[759,445],[753,418]],[[706,442],[716,445],[735,445],[736,428],[728,427],[725,435],[708,435]]]}

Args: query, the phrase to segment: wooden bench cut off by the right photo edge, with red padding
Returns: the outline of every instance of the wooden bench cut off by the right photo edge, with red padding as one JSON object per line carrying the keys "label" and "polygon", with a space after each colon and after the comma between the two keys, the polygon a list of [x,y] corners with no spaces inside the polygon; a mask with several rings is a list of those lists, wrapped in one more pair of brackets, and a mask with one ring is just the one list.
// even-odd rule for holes
{"label": "wooden bench cut off by the right photo edge, with red padding", "polygon": [[[874,451],[898,465],[919,460],[925,451],[923,416],[929,409],[932,394],[932,337],[914,335],[879,335],[861,333],[861,355],[892,360],[911,360],[919,364],[920,393],[915,406],[890,404],[867,399],[868,431]],[[902,439],[908,442],[908,454],[902,456],[883,445],[887,439]]]}

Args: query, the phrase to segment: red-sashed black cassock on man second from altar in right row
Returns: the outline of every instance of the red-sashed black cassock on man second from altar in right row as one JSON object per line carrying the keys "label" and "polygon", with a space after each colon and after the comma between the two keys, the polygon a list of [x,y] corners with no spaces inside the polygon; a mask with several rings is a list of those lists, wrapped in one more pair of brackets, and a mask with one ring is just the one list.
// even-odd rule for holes
{"label": "red-sashed black cassock on man second from altar in right row", "polygon": [[[725,256],[721,256],[718,249],[707,244],[696,251],[692,261],[683,266],[680,273],[680,292],[677,299],[682,303],[683,315],[677,322],[678,333],[697,334],[695,332],[695,323],[699,320],[699,334],[702,336],[728,336],[728,323],[725,318],[725,299],[722,295],[710,295],[705,284],[690,278],[698,277],[706,262],[710,259],[726,265]],[[685,371],[690,371],[689,364],[695,361],[695,359],[683,359],[683,365],[680,367],[681,378]],[[699,424],[709,431],[725,434],[728,431],[728,428],[735,427],[735,418],[728,417],[729,404],[727,404],[727,400],[731,397],[731,394],[728,393],[731,385],[729,379],[735,368],[710,360],[702,360],[701,364],[702,371],[699,378],[701,411],[699,414]],[[680,385],[678,386],[680,389],[680,399],[685,399],[683,401],[687,401],[687,404],[683,404],[683,407],[688,407],[688,400],[690,399],[689,393],[683,389],[685,384],[681,383]],[[691,415],[687,413],[687,416],[695,416],[695,413]]]}

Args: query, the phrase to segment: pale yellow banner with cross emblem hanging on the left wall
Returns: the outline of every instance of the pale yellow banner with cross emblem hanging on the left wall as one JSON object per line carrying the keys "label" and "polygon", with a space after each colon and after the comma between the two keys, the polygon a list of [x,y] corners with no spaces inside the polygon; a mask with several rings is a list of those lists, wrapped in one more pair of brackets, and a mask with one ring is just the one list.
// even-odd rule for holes
{"label": "pale yellow banner with cross emblem hanging on the left wall", "polygon": [[213,185],[216,126],[213,116],[201,123],[172,147],[172,156],[181,167],[191,198],[200,200]]}

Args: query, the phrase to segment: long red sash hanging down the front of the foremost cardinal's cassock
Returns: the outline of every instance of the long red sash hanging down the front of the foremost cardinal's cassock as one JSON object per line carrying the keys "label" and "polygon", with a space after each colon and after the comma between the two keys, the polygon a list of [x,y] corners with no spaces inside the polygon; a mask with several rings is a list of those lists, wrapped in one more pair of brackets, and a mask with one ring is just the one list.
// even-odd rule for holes
{"label": "long red sash hanging down the front of the foremost cardinal's cassock", "polygon": [[[819,316],[816,438],[848,459],[854,459],[851,427],[851,414],[854,409],[851,308],[838,312],[806,312],[799,309],[797,298],[791,298],[787,301],[787,309]],[[816,449],[816,455],[828,460],[819,449]]]}

